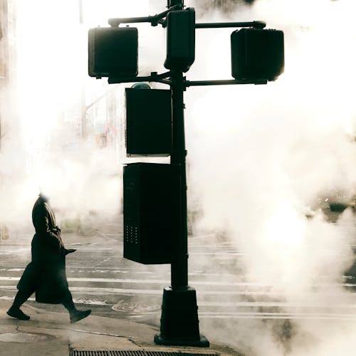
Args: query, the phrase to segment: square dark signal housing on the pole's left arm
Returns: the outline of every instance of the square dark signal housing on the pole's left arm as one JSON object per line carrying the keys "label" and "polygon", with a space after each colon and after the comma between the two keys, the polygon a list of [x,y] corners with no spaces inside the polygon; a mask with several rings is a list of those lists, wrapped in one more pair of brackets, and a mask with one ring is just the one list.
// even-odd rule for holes
{"label": "square dark signal housing on the pole's left arm", "polygon": [[90,28],[88,33],[88,74],[90,77],[136,76],[137,56],[137,28]]}

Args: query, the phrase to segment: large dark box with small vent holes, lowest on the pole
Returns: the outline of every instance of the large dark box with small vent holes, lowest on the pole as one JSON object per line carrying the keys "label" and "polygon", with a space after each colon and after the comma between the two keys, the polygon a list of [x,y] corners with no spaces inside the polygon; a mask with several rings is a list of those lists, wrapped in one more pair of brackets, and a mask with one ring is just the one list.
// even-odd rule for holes
{"label": "large dark box with small vent holes, lowest on the pole", "polygon": [[144,264],[172,263],[179,231],[179,165],[124,167],[124,257]]}

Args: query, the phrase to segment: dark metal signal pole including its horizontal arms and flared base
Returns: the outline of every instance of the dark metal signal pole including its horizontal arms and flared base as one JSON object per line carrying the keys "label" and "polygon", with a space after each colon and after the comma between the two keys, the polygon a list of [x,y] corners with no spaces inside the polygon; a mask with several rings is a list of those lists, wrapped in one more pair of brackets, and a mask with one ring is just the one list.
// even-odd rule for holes
{"label": "dark metal signal pole including its horizontal arms and flared base", "polygon": [[[182,10],[183,1],[170,0],[169,11]],[[164,20],[167,11],[148,18],[110,19],[111,26],[120,23],[149,21],[152,25]],[[237,23],[241,24],[241,23]],[[244,23],[245,24],[245,23]],[[251,25],[252,23],[248,23]],[[228,23],[231,26],[231,23]],[[236,25],[236,23],[233,23]],[[260,22],[255,26],[263,26]],[[201,28],[211,28],[211,24],[202,24]],[[219,24],[215,24],[219,26]],[[225,25],[224,25],[225,26]],[[227,25],[226,25],[227,26]],[[162,314],[160,333],[155,335],[155,343],[159,345],[184,345],[209,347],[209,341],[199,333],[197,293],[188,283],[188,231],[187,231],[187,177],[185,133],[184,133],[184,91],[193,85],[226,85],[255,83],[251,80],[202,80],[189,82],[184,78],[183,69],[179,64],[172,63],[168,73],[151,73],[148,77],[115,78],[110,77],[109,83],[132,81],[156,81],[168,84],[172,91],[172,150],[171,164],[179,167],[179,206],[177,206],[177,231],[172,236],[171,286],[164,288],[162,298]],[[258,82],[261,83],[261,82]],[[264,83],[264,81],[263,81]]]}

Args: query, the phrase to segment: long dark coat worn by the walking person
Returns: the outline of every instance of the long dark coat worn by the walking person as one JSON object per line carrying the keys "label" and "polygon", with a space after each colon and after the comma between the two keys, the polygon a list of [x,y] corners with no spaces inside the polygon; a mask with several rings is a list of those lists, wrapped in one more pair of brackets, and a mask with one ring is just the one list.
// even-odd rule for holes
{"label": "long dark coat worn by the walking person", "polygon": [[31,243],[32,261],[17,287],[25,293],[35,291],[39,303],[63,303],[68,290],[66,248],[51,206],[41,195],[33,206],[32,221],[36,230]]}

